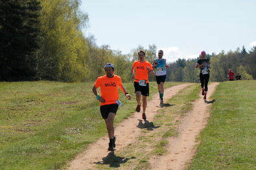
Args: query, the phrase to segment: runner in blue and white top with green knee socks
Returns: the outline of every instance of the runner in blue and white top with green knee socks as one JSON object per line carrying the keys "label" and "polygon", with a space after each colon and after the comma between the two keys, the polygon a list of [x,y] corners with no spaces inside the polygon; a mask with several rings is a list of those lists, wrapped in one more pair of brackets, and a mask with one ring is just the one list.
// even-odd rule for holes
{"label": "runner in blue and white top with green knee socks", "polygon": [[156,83],[159,91],[159,98],[161,103],[163,102],[163,92],[164,92],[164,83],[166,79],[166,70],[165,68],[169,68],[167,65],[166,59],[163,59],[163,50],[158,51],[158,58],[154,59],[152,63],[152,67],[156,68]]}

